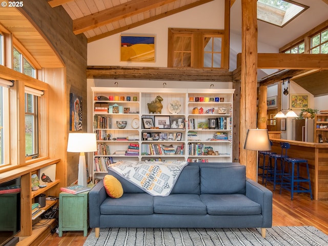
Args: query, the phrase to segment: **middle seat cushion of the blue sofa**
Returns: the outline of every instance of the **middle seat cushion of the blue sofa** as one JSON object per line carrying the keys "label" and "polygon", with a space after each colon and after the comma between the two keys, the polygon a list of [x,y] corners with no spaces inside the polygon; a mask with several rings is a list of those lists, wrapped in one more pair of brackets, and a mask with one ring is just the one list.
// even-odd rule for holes
{"label": "middle seat cushion of the blue sofa", "polygon": [[158,214],[207,214],[205,204],[195,194],[171,194],[154,197],[154,212]]}

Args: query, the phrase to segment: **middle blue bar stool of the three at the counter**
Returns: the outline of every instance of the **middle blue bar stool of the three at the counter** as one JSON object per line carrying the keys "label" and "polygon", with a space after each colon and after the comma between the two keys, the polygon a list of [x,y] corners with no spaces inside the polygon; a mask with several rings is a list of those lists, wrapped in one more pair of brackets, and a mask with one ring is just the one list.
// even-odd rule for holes
{"label": "middle blue bar stool of the three at the counter", "polygon": [[[281,183],[282,176],[282,162],[284,158],[287,158],[287,150],[291,147],[288,142],[280,142],[281,154],[271,154],[269,155],[270,165],[267,170],[267,177],[265,180],[265,186],[267,186],[268,181],[273,182],[273,191],[276,190],[276,185]],[[274,159],[274,167],[272,167],[272,159]],[[280,160],[280,169],[278,169],[278,160]],[[270,174],[270,177],[269,177]],[[279,182],[278,182],[279,181]]]}

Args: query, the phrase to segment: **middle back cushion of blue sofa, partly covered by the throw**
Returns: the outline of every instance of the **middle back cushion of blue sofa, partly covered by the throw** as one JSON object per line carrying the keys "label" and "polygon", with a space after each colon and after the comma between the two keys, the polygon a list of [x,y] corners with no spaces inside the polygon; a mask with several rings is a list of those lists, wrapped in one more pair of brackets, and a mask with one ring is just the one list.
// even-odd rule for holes
{"label": "middle back cushion of blue sofa, partly covered by the throw", "polygon": [[200,194],[199,167],[186,166],[182,169],[171,194]]}

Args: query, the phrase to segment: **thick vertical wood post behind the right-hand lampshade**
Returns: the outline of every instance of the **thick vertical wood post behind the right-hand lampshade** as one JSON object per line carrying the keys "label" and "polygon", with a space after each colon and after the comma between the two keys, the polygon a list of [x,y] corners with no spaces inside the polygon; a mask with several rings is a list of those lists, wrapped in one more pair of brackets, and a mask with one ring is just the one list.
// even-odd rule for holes
{"label": "thick vertical wood post behind the right-hand lampshade", "polygon": [[257,19],[256,1],[241,0],[242,49],[240,92],[240,163],[246,166],[246,176],[256,177],[256,151],[243,149],[247,130],[256,129],[257,98]]}

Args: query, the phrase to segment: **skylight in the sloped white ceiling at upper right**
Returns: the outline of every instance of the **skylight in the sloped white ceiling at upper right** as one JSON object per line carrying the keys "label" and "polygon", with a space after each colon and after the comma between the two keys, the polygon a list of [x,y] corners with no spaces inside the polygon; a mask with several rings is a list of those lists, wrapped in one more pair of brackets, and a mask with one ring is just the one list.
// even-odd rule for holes
{"label": "skylight in the sloped white ceiling at upper right", "polygon": [[258,0],[257,18],[283,27],[308,8],[290,0]]}

